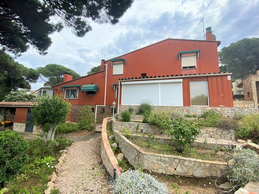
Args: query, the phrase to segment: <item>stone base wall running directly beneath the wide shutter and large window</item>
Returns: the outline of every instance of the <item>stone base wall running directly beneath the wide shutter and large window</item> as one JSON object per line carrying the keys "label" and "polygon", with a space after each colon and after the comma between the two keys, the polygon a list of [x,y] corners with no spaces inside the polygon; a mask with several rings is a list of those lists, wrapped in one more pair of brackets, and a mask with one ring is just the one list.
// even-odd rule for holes
{"label": "stone base wall running directly beneath the wide shutter and large window", "polygon": [[[133,114],[138,112],[138,105],[131,105]],[[182,112],[185,114],[202,115],[208,110],[220,111],[226,117],[233,117],[235,113],[239,114],[259,114],[258,107],[203,107],[203,106],[152,106],[152,109],[172,109],[173,111]],[[120,105],[119,113],[128,110],[128,105]]]}

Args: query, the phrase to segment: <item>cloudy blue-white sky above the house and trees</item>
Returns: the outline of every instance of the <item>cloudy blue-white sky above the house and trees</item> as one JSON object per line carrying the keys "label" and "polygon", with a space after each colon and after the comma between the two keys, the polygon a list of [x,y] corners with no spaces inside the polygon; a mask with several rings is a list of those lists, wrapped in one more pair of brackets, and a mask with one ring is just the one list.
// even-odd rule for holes
{"label": "cloudy blue-white sky above the house and trees", "polygon": [[[258,0],[135,0],[116,25],[95,24],[85,37],[76,37],[69,29],[50,35],[53,43],[47,55],[30,48],[17,61],[37,68],[57,63],[86,75],[104,59],[122,55],[165,38],[203,39],[203,27],[211,26],[222,47],[246,37],[259,36]],[[43,86],[42,81],[32,89]]]}

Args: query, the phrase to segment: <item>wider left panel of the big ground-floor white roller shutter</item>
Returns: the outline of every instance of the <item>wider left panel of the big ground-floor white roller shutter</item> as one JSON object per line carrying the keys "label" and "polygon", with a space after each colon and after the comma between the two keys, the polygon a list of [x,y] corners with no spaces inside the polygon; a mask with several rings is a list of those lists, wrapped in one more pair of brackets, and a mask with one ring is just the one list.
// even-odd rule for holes
{"label": "wider left panel of the big ground-floor white roller shutter", "polygon": [[122,85],[122,105],[138,105],[141,100],[150,100],[153,105],[159,104],[158,83]]}

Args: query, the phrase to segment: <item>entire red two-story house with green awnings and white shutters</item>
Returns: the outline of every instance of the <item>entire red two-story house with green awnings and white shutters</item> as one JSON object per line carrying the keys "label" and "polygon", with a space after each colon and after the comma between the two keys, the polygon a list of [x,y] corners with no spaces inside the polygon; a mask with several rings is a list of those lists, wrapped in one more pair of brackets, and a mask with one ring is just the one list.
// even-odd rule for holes
{"label": "entire red two-story house with green awnings and white shutters", "polygon": [[[130,42],[129,42],[130,44]],[[181,108],[201,114],[208,109],[233,107],[231,72],[219,72],[217,47],[211,27],[206,40],[167,38],[152,45],[101,61],[101,71],[73,79],[65,74],[55,93],[72,104],[70,118],[91,105],[97,120],[149,100],[154,106]]]}

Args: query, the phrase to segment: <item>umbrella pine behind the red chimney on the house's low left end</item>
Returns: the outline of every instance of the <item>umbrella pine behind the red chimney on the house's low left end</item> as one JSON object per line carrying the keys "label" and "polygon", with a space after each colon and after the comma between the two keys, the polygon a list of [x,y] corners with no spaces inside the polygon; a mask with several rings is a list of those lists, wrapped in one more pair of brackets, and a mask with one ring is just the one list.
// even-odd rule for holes
{"label": "umbrella pine behind the red chimney on the house's low left end", "polygon": [[73,79],[80,77],[74,70],[55,63],[48,64],[45,67],[38,67],[37,71],[40,73],[39,77],[45,81],[43,84],[45,87],[62,83],[64,73],[70,73],[73,76]]}

